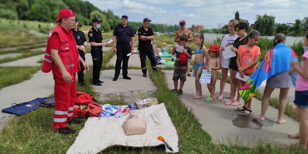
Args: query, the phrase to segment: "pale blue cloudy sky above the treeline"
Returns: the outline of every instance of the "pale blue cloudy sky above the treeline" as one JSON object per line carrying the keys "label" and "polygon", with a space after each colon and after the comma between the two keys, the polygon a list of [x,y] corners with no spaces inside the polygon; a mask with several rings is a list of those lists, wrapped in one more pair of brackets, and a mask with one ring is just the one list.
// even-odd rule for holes
{"label": "pale blue cloudy sky above the treeline", "polygon": [[[83,0],[85,1],[85,0]],[[308,0],[87,0],[100,10],[112,10],[115,15],[128,15],[129,21],[142,22],[147,17],[152,23],[179,24],[186,27],[202,24],[217,28],[228,24],[239,11],[240,18],[255,22],[256,14],[271,14],[278,23],[295,23],[308,17]]]}

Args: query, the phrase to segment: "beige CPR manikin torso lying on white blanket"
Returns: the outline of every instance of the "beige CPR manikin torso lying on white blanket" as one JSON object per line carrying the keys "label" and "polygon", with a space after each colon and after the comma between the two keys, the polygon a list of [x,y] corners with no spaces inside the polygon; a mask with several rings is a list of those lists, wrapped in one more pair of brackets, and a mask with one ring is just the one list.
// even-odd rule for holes
{"label": "beige CPR manikin torso lying on white blanket", "polygon": [[129,119],[124,122],[123,128],[126,135],[143,134],[146,132],[146,122],[138,118],[136,110],[132,110],[129,112]]}

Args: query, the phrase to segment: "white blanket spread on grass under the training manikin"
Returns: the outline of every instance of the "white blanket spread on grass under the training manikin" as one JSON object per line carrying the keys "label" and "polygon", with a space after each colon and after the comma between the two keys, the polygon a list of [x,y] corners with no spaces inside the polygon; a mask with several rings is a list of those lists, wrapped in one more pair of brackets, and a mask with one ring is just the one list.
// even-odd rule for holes
{"label": "white blanket spread on grass under the training manikin", "polygon": [[[137,110],[139,118],[146,120],[146,133],[137,135],[125,135],[123,122],[128,120],[128,115],[120,118],[89,117],[84,128],[79,132],[75,142],[67,150],[67,154],[96,154],[104,149],[114,146],[128,147],[154,147],[164,144],[157,140],[163,136],[165,141],[173,149],[173,153],[179,152],[179,137],[175,126],[166,110],[164,103],[152,105]],[[166,148],[166,152],[171,152]]]}

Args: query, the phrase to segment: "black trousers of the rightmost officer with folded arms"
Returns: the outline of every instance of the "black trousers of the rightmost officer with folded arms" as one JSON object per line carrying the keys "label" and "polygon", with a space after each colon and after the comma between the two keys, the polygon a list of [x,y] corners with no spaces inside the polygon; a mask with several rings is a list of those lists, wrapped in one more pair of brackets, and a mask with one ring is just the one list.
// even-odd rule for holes
{"label": "black trousers of the rightmost officer with folded arms", "polygon": [[139,51],[140,56],[140,62],[141,62],[141,70],[142,73],[147,73],[147,67],[145,65],[146,56],[148,56],[148,59],[151,61],[151,67],[153,70],[156,70],[156,60],[154,51]]}

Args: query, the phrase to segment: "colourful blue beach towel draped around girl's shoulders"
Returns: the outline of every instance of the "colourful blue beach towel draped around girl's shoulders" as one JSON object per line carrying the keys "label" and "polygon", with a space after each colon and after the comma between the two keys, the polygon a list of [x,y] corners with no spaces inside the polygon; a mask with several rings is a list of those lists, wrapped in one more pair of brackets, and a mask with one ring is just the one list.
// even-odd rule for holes
{"label": "colourful blue beach towel draped around girl's shoulders", "polygon": [[[239,93],[244,101],[256,95],[256,89],[271,76],[291,69],[291,59],[297,60],[296,53],[283,43],[278,43],[268,51],[257,70],[241,87]],[[295,86],[295,85],[294,85]]]}

